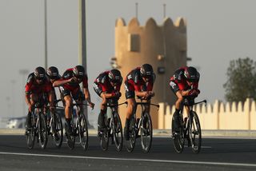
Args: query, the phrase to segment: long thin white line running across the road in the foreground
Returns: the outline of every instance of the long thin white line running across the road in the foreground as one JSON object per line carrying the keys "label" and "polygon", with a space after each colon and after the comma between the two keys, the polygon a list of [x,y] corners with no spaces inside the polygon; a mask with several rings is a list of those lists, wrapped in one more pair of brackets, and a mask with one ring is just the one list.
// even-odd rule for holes
{"label": "long thin white line running across the road in the foreground", "polygon": [[247,163],[228,163],[228,162],[210,162],[210,161],[167,161],[167,160],[153,160],[153,159],[141,159],[141,158],[86,157],[86,156],[35,154],[35,153],[6,153],[6,152],[0,152],[0,154],[18,155],[18,156],[36,156],[36,157],[65,157],[65,158],[109,160],[109,161],[148,161],[148,162],[158,162],[158,163],[178,163],[178,164],[194,164],[194,165],[195,164],[198,164],[198,165],[228,165],[228,166],[256,167],[256,164],[250,164],[250,163],[247,164]]}

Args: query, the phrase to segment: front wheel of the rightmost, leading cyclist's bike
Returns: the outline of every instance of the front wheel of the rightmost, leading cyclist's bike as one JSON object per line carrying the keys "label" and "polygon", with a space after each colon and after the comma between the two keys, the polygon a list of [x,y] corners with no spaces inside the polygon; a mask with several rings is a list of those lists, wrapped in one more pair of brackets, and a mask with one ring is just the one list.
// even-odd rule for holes
{"label": "front wheel of the rightmost, leading cyclist's bike", "polygon": [[202,133],[200,121],[198,118],[198,114],[194,111],[190,112],[190,121],[189,121],[189,134],[190,134],[190,142],[192,145],[192,151],[194,153],[199,153],[202,144]]}

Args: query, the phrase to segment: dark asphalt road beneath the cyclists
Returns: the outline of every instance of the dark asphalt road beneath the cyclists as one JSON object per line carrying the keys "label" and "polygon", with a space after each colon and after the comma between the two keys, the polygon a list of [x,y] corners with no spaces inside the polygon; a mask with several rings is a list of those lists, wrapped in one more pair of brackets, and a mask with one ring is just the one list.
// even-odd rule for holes
{"label": "dark asphalt road beneath the cyclists", "polygon": [[203,138],[202,150],[178,154],[170,137],[154,137],[150,153],[142,153],[138,139],[133,153],[102,151],[98,137],[90,136],[85,151],[56,149],[50,138],[46,149],[26,148],[25,136],[0,136],[0,170],[256,170],[256,139]]}

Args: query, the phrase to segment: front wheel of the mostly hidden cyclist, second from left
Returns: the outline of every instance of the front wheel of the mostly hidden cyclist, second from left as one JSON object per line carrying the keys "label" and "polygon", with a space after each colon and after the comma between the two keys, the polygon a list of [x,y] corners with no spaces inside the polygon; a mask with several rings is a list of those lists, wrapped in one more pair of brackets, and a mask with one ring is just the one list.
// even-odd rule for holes
{"label": "front wheel of the mostly hidden cyclist, second from left", "polygon": [[62,118],[59,117],[57,113],[54,113],[54,118],[53,118],[53,121],[51,122],[50,127],[52,129],[51,135],[54,141],[54,145],[60,148],[62,146],[62,141],[63,141],[63,128],[62,128]]}

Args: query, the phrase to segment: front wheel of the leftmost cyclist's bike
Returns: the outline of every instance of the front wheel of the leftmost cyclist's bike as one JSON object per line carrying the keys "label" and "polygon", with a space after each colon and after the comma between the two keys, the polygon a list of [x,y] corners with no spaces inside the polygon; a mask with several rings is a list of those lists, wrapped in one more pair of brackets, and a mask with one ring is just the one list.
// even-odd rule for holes
{"label": "front wheel of the leftmost cyclist's bike", "polygon": [[39,113],[39,122],[38,122],[38,140],[39,145],[42,149],[46,149],[47,141],[48,141],[48,131],[46,118],[42,113]]}

